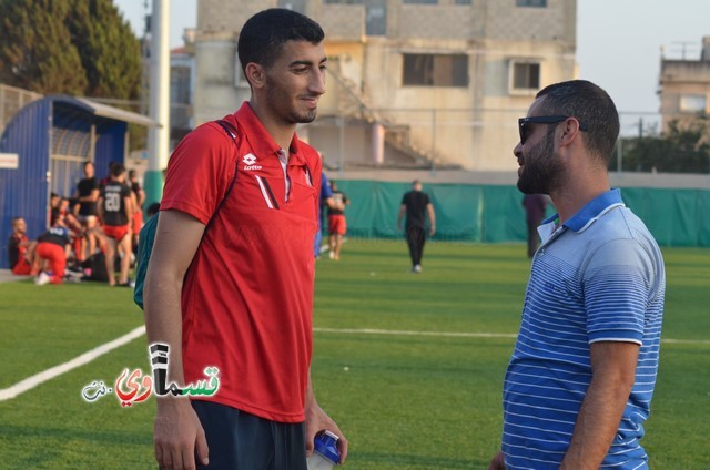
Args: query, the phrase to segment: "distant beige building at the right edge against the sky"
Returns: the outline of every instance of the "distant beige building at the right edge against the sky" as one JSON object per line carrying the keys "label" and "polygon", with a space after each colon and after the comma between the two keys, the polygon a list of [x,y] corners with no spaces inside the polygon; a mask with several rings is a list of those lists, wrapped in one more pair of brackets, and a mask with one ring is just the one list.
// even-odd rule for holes
{"label": "distant beige building at the right edge against the sky", "polygon": [[702,38],[700,59],[661,58],[659,94],[663,131],[672,121],[710,114],[710,35]]}

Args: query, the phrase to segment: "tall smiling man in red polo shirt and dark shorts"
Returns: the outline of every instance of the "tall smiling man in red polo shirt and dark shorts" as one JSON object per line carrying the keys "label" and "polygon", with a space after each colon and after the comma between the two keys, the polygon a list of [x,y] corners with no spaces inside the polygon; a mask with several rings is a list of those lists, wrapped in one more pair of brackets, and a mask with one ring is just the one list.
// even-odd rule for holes
{"label": "tall smiling man in red polo shirt and dark shorts", "polygon": [[220,388],[158,398],[163,468],[194,468],[196,457],[210,468],[305,470],[322,430],[339,437],[341,461],[347,454],[311,387],[321,161],[295,134],[325,92],[323,38],[290,10],[252,17],[237,45],[252,96],[224,119],[235,139],[207,123],[170,159],[145,280],[148,337],[169,345],[171,382],[216,367]]}

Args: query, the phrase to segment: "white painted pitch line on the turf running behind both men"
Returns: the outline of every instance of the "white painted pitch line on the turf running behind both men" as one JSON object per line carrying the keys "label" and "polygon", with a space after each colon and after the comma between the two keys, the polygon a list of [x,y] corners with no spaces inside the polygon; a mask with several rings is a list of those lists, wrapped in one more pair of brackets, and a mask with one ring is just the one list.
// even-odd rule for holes
{"label": "white painted pitch line on the turf running behind both men", "polygon": [[[517,335],[505,333],[463,333],[463,331],[415,331],[400,329],[373,329],[373,328],[313,328],[314,333],[336,333],[351,335],[393,335],[393,336],[434,336],[439,338],[511,338]],[[145,334],[145,327],[140,326],[126,335],[121,336],[104,345],[98,346],[81,356],[77,356],[70,361],[60,364],[32,377],[14,384],[13,386],[0,390],[0,401],[10,400],[20,394],[33,389],[34,387],[61,376],[72,369],[91,362],[100,356],[116,349],[133,339]],[[708,339],[662,339],[661,343],[684,344],[684,345],[710,345]]]}

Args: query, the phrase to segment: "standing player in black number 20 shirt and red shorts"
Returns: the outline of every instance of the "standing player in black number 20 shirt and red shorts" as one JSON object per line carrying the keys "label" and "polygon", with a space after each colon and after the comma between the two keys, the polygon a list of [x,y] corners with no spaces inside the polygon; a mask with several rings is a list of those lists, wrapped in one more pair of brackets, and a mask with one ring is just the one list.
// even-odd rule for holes
{"label": "standing player in black number 20 shirt and red shorts", "polygon": [[121,163],[111,166],[111,177],[101,188],[99,196],[99,215],[103,221],[103,233],[106,235],[106,272],[109,285],[115,286],[114,256],[116,249],[122,254],[119,286],[130,286],[131,268],[131,219],[133,216],[133,198],[125,184],[125,167]]}

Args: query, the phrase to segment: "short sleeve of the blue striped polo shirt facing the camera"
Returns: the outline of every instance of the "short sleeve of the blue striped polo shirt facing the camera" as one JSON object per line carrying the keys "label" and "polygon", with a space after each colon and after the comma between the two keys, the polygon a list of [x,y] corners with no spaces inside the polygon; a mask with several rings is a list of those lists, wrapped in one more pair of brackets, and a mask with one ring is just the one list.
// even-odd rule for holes
{"label": "short sleeve of the blue striped polo shirt facing the camera", "polygon": [[589,343],[642,344],[646,310],[658,273],[632,238],[607,243],[591,254],[584,295]]}

